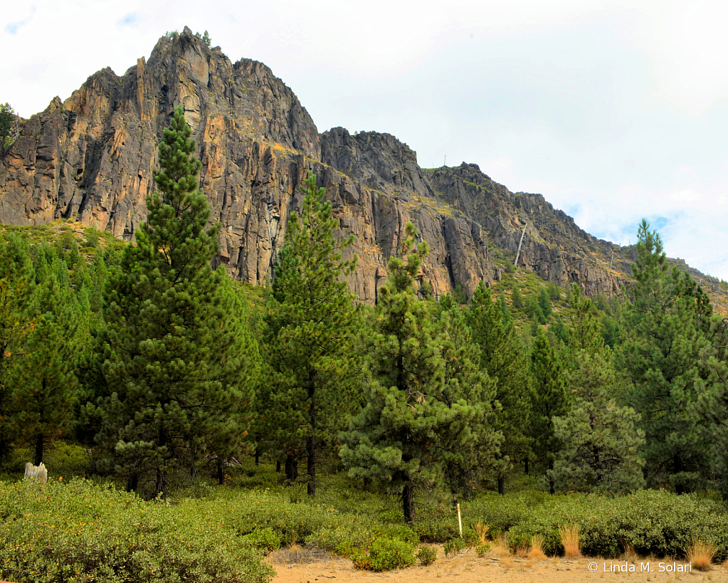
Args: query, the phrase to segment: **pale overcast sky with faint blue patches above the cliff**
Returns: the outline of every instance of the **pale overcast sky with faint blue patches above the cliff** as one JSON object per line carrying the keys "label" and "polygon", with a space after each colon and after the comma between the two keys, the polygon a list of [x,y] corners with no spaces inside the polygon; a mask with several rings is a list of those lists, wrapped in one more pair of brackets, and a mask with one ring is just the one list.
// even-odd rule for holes
{"label": "pale overcast sky with faint blue patches above the cliff", "polygon": [[475,162],[620,244],[728,280],[728,35],[700,1],[16,1],[0,101],[28,117],[165,31],[270,66],[319,131],[389,132],[423,167]]}

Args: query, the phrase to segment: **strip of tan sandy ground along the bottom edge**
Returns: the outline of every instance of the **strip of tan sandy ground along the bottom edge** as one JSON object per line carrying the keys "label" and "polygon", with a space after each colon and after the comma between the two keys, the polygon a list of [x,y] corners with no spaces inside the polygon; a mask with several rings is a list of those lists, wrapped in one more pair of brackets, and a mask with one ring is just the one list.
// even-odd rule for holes
{"label": "strip of tan sandy ground along the bottom edge", "polygon": [[[435,564],[422,567],[415,566],[386,573],[360,571],[354,568],[350,560],[331,558],[321,553],[306,553],[305,550],[281,550],[268,557],[277,571],[274,583],[314,583],[345,581],[387,582],[387,583],[441,583],[447,581],[463,583],[582,583],[582,582],[715,582],[728,583],[728,568],[713,565],[710,571],[692,570],[692,573],[660,572],[660,562],[673,566],[673,561],[650,560],[649,568],[641,571],[641,563],[648,559],[637,559],[634,563],[623,560],[604,560],[599,558],[582,558],[566,560],[548,558],[533,561],[515,555],[488,555],[478,558],[472,550],[460,552],[459,555],[446,558],[442,548],[438,548],[438,560]],[[596,572],[590,571],[590,564]],[[609,571],[617,566],[633,565],[635,572]],[[686,563],[678,562],[684,566]],[[605,571],[605,568],[607,569]]]}

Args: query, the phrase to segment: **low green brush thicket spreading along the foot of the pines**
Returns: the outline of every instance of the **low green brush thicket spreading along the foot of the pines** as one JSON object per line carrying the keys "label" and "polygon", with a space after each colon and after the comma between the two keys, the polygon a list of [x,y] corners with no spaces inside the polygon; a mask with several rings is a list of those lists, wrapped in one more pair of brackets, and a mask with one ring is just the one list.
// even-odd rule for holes
{"label": "low green brush thicket spreading along the foot of the pines", "polygon": [[579,528],[587,556],[633,549],[684,558],[699,539],[715,549],[714,560],[728,558],[725,504],[696,495],[488,493],[461,503],[461,538],[455,510],[434,496],[405,525],[396,496],[362,491],[341,475],[324,478],[309,499],[266,465],[229,473],[234,485],[177,491],[173,504],[58,476],[46,486],[0,482],[0,579],[262,583],[272,577],[262,559],[279,547],[315,546],[381,571],[411,566],[417,556],[425,563],[422,551],[416,555],[420,543],[485,554],[483,535],[488,542],[505,536],[513,550],[537,540],[547,555],[562,555],[564,526]]}

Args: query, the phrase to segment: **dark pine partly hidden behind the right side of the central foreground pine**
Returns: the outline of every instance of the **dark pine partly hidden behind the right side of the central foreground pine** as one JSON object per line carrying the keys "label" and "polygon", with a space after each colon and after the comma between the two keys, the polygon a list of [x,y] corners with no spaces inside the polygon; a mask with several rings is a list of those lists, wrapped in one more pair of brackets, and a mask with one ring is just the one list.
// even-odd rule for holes
{"label": "dark pine partly hidden behind the right side of the central foreground pine", "polygon": [[496,383],[496,402],[501,408],[493,416],[492,427],[503,435],[492,471],[498,491],[505,493],[505,477],[513,461],[528,464],[531,447],[526,436],[529,422],[529,373],[526,349],[513,321],[504,318],[490,290],[483,282],[475,288],[467,323],[480,352],[480,370]]}

